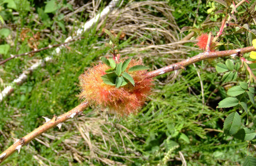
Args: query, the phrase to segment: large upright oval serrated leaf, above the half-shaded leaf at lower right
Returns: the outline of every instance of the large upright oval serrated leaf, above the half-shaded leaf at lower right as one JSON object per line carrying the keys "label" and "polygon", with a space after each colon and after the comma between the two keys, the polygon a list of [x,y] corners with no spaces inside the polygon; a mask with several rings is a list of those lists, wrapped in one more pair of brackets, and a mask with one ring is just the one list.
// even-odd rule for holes
{"label": "large upright oval serrated leaf, above the half-shaded leaf at lower right", "polygon": [[238,132],[241,127],[241,117],[237,112],[232,112],[224,120],[224,134],[233,135]]}

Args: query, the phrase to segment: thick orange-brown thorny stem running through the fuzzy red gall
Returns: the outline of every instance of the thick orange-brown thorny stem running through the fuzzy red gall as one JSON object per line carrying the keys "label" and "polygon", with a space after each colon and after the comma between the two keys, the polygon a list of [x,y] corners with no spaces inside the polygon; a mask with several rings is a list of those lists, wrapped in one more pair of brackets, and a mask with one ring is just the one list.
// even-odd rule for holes
{"label": "thick orange-brown thorny stem running through the fuzzy red gall", "polygon": [[[200,53],[194,57],[191,57],[189,59],[186,59],[184,61],[171,64],[169,66],[154,70],[152,72],[146,73],[146,76],[148,78],[153,78],[156,76],[159,76],[161,74],[164,74],[166,72],[171,72],[178,69],[184,69],[185,66],[188,66],[189,64],[193,64],[195,62],[199,62],[205,59],[211,59],[211,58],[217,58],[217,57],[225,57],[229,55],[238,55],[239,53],[247,53],[251,51],[256,51],[256,49],[253,46],[240,48],[240,49],[233,49],[233,50],[227,50],[227,51],[216,51],[216,52],[208,52],[205,51],[204,53]],[[255,80],[256,82],[256,80]],[[15,141],[13,145],[11,145],[8,149],[6,149],[3,153],[0,154],[0,163],[3,162],[7,157],[9,157],[15,150],[20,150],[20,148],[26,144],[28,144],[31,140],[35,139],[38,135],[41,135],[42,133],[46,132],[50,128],[53,128],[57,126],[58,124],[61,124],[62,122],[65,122],[66,120],[73,118],[77,115],[83,115],[83,110],[88,107],[88,103],[81,103],[74,109],[70,110],[69,112],[60,115],[59,117],[53,117],[51,120],[47,121],[42,126],[38,127],[28,135],[20,138],[18,141]]]}

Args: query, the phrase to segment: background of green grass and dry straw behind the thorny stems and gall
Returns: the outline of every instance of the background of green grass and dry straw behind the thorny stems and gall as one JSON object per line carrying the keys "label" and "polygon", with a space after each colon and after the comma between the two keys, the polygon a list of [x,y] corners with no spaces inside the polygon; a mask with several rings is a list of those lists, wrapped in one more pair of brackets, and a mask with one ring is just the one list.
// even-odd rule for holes
{"label": "background of green grass and dry straw behind the thorny stems and gall", "polygon": [[[0,15],[6,24],[0,30],[0,59],[64,42],[108,3],[0,1]],[[105,21],[85,32],[82,40],[61,49],[61,53],[47,49],[1,65],[0,90],[3,90],[39,59],[46,56],[54,59],[35,70],[26,83],[16,86],[14,93],[0,103],[0,150],[13,143],[11,137],[20,138],[43,124],[42,116],[60,115],[80,103],[77,97],[79,75],[99,57],[111,55],[104,45],[108,36],[103,28],[110,29],[119,39],[121,55],[139,57],[154,70],[201,52],[191,42],[170,43],[188,34],[179,33],[184,26],[212,31],[216,35],[223,15],[214,12],[222,7],[214,1],[123,1]],[[247,23],[250,29],[255,29],[251,8],[254,10],[255,1],[237,9],[237,24],[241,27]],[[77,9],[80,10],[74,12]],[[220,50],[251,46],[247,40],[249,33],[234,33],[234,28],[226,28],[220,39],[227,44],[220,46]],[[249,54],[244,56],[252,60]],[[158,76],[152,95],[137,115],[120,118],[107,111],[88,108],[84,111],[86,116],[66,122],[62,132],[54,128],[44,133],[32,141],[30,148],[14,153],[5,164],[181,165],[183,155],[187,165],[242,165],[250,158],[244,161],[247,155],[255,156],[255,136],[249,142],[234,134],[247,130],[246,127],[252,133],[255,131],[255,106],[252,104],[255,97],[242,101],[248,103],[247,111],[242,111],[245,109],[241,101],[229,108],[221,108],[219,103],[231,98],[228,96],[248,95],[255,89],[255,83],[251,84],[251,90],[241,83],[246,79],[246,72],[238,72],[237,64],[238,61],[226,58],[215,59],[188,66],[187,72]],[[215,65],[222,68],[215,68]],[[256,74],[255,64],[250,67]],[[228,72],[232,72],[231,79],[224,77]],[[236,73],[239,79],[234,78]],[[234,87],[243,94],[238,94]],[[228,127],[224,123],[224,119],[231,116],[241,117],[240,126],[232,128],[233,133],[225,130]]]}

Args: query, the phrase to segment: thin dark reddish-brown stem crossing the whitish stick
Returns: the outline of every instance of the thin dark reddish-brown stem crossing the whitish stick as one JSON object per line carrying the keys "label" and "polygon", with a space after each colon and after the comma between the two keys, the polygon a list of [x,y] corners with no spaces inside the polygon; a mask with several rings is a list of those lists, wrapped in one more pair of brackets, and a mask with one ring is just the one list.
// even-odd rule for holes
{"label": "thin dark reddish-brown stem crossing the whitish stick", "polygon": [[71,39],[71,40],[69,40],[69,41],[67,41],[67,42],[65,42],[65,43],[55,44],[55,45],[49,45],[49,46],[47,46],[47,47],[40,48],[40,49],[36,49],[36,50],[34,50],[34,51],[30,51],[30,52],[26,52],[26,53],[22,53],[22,54],[17,54],[17,55],[11,55],[11,57],[9,57],[9,58],[7,58],[7,59],[1,61],[1,62],[0,62],[0,65],[1,65],[1,64],[4,64],[5,62],[7,62],[7,61],[9,61],[9,60],[11,60],[11,59],[13,59],[13,58],[16,58],[16,57],[28,55],[28,54],[31,54],[31,53],[37,53],[37,52],[40,52],[40,51],[43,51],[43,50],[46,50],[46,49],[50,49],[50,48],[53,48],[53,47],[59,47],[59,46],[62,46],[62,45],[64,46],[64,45],[67,44],[67,43],[70,43],[70,42],[73,42],[73,41],[76,41],[76,40],[79,40],[79,39],[82,39],[82,38],[84,38],[84,37],[82,36],[82,37],[78,37],[78,38],[73,38],[73,39]]}

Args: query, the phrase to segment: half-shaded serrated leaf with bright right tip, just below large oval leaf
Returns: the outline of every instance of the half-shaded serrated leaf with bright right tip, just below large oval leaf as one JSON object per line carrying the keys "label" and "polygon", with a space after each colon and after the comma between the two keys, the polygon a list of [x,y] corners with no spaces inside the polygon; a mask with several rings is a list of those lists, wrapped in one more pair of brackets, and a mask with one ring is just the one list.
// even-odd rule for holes
{"label": "half-shaded serrated leaf with bright right tip, just below large oval leaf", "polygon": [[256,133],[253,129],[241,128],[235,135],[233,135],[233,137],[236,139],[241,139],[242,141],[251,141],[254,139],[255,135]]}

